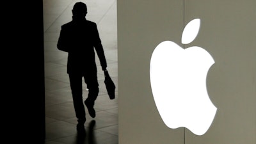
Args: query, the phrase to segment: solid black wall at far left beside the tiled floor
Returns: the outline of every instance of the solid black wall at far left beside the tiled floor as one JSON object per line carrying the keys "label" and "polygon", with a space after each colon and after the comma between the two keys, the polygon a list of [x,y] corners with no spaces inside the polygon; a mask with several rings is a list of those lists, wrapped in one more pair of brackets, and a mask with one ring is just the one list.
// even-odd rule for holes
{"label": "solid black wall at far left beside the tiled floor", "polygon": [[2,129],[8,143],[44,143],[42,1],[10,1],[1,18]]}

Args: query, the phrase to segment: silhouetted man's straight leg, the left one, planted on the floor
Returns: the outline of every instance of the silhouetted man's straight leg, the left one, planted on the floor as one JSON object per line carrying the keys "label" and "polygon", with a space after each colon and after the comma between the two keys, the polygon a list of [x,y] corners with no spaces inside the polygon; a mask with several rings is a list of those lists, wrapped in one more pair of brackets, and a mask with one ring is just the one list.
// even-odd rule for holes
{"label": "silhouetted man's straight leg, the left one, planted on the floor", "polygon": [[79,125],[84,125],[86,118],[83,104],[82,76],[77,74],[69,74],[69,80],[77,122]]}

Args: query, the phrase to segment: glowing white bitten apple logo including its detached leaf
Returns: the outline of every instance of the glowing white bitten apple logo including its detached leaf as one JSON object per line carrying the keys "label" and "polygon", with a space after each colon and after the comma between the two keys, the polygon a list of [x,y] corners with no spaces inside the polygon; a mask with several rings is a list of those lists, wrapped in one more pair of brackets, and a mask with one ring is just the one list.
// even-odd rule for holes
{"label": "glowing white bitten apple logo including its detached leaf", "polygon": [[[182,44],[192,42],[200,19],[191,20],[182,33]],[[207,73],[214,64],[201,47],[184,49],[171,41],[157,45],[150,60],[150,84],[164,124],[172,129],[186,127],[203,135],[212,124],[217,108],[207,93]]]}

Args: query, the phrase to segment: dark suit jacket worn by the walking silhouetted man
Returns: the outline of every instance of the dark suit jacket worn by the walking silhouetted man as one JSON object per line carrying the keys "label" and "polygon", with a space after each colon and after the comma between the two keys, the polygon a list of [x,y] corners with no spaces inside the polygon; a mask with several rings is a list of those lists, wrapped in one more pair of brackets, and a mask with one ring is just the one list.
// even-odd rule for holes
{"label": "dark suit jacket worn by the walking silhouetted man", "polygon": [[[97,72],[95,51],[102,70],[107,67],[97,25],[86,20],[72,20],[61,26],[58,49],[68,52],[67,73]],[[95,51],[94,51],[95,50]]]}

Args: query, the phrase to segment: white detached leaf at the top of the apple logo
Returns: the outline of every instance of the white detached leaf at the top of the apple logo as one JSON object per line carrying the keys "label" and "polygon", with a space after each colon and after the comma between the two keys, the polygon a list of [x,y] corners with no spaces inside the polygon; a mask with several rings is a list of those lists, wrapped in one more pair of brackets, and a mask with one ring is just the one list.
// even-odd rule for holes
{"label": "white detached leaf at the top of the apple logo", "polygon": [[183,30],[181,42],[189,44],[195,40],[200,29],[200,19],[191,20]]}

